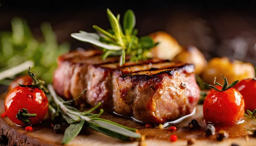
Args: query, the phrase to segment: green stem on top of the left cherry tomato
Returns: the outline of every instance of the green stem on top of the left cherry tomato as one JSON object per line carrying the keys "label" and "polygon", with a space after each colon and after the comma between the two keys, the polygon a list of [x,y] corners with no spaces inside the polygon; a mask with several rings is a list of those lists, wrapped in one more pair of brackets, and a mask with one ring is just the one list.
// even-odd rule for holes
{"label": "green stem on top of the left cherry tomato", "polygon": [[26,85],[21,85],[19,84],[21,87],[30,87],[30,88],[39,88],[42,91],[44,91],[45,93],[48,93],[48,90],[44,87],[45,82],[40,80],[39,78],[37,78],[35,76],[34,72],[30,72],[30,67],[28,68],[28,75],[30,76],[30,78],[32,78],[33,83],[31,84],[26,84]]}

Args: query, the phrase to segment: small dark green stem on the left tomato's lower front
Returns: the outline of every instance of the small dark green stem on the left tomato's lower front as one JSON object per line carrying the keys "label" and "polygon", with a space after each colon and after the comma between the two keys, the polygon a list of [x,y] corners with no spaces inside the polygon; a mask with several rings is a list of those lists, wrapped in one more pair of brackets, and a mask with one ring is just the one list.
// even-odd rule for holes
{"label": "small dark green stem on the left tomato's lower front", "polygon": [[30,123],[30,118],[31,117],[35,117],[37,116],[35,113],[28,113],[28,110],[25,109],[25,108],[21,108],[17,115],[16,115],[16,118],[20,121],[22,121],[22,123],[25,123],[25,124],[29,124]]}

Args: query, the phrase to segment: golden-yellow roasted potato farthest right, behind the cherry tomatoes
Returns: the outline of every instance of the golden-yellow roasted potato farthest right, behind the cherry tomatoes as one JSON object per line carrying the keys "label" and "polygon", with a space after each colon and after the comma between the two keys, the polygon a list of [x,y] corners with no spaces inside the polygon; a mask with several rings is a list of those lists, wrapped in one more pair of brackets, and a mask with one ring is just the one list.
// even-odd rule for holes
{"label": "golden-yellow roasted potato farthest right, behind the cherry tomatoes", "polygon": [[254,78],[254,67],[251,63],[245,63],[239,60],[229,60],[227,57],[212,58],[202,72],[202,78],[205,83],[213,84],[216,81],[223,84],[223,77],[228,79],[228,83],[244,78]]}

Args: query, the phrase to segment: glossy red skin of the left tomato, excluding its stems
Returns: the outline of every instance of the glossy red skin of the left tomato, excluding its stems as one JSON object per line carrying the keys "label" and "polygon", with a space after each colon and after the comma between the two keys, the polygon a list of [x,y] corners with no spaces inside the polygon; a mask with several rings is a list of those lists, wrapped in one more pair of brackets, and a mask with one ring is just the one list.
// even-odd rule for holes
{"label": "glossy red skin of the left tomato, excluding its stems", "polygon": [[30,117],[32,125],[42,121],[48,111],[46,94],[38,88],[17,86],[7,94],[4,105],[8,118],[19,126],[27,125],[16,118],[21,108],[27,109],[28,113],[37,114],[35,117]]}

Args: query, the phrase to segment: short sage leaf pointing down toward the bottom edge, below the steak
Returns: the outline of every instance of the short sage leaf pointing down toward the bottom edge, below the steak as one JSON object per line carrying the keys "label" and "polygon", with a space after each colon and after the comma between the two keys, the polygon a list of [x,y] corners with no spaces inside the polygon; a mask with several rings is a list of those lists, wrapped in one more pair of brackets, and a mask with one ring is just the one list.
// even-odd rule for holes
{"label": "short sage leaf pointing down toward the bottom edge, below the steak", "polygon": [[70,126],[68,126],[68,128],[66,128],[64,132],[62,144],[66,144],[70,142],[73,138],[75,138],[79,134],[79,132],[82,130],[84,126],[84,122],[85,120],[81,119],[77,123],[71,123]]}

